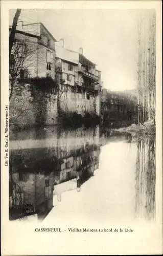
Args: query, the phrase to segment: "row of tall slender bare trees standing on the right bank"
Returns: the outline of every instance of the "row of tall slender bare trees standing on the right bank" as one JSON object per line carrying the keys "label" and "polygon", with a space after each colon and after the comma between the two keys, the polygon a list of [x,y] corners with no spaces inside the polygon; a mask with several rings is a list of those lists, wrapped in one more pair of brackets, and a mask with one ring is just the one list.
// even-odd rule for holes
{"label": "row of tall slender bare trees standing on the right bank", "polygon": [[156,75],[156,22],[155,12],[141,15],[138,20],[137,98],[139,122],[155,123],[155,75]]}

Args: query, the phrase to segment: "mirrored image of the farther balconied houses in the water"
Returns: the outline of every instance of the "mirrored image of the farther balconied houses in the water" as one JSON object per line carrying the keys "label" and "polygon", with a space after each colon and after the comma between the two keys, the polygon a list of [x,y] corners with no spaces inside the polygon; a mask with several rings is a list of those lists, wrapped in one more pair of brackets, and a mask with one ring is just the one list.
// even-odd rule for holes
{"label": "mirrored image of the farther balconied houses in the water", "polygon": [[[74,153],[76,155],[74,157],[63,158],[61,169],[55,173],[54,195],[77,188],[75,180],[78,179],[78,183],[82,185],[94,175],[94,170],[99,168],[100,147],[98,145],[86,145],[81,149],[74,149]],[[69,182],[71,180],[72,182]]]}

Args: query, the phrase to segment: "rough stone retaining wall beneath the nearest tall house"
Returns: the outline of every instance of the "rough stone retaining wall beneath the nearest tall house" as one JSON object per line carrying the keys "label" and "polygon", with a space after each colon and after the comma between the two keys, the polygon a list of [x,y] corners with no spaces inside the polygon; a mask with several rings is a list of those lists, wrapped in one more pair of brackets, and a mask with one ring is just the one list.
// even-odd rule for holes
{"label": "rough stone retaining wall beneath the nearest tall house", "polygon": [[9,105],[11,129],[57,124],[57,93],[46,94],[31,84],[17,84]]}

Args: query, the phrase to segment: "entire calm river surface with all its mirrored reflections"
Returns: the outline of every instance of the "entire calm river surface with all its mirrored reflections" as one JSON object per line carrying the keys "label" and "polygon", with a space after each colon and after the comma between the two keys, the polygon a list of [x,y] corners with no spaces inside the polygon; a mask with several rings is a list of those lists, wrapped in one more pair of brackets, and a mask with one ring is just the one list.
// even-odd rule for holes
{"label": "entire calm river surface with all its mirrored reflections", "polygon": [[56,202],[67,216],[153,219],[155,140],[102,132],[99,126],[10,134],[10,220],[25,217],[26,204],[37,219],[55,217]]}

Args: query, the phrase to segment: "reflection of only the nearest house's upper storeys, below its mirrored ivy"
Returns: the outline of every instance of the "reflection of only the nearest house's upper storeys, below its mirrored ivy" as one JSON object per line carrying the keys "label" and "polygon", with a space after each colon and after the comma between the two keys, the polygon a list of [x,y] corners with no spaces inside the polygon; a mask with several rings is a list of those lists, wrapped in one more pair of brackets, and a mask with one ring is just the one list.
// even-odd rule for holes
{"label": "reflection of only the nearest house's upper storeys, below its mirrored ivy", "polygon": [[[10,174],[10,216],[15,218],[13,209],[20,209],[30,204],[34,207],[34,214],[43,218],[53,207],[53,173],[26,173],[23,170]],[[22,216],[21,216],[22,217]]]}

